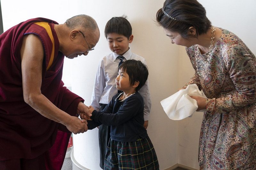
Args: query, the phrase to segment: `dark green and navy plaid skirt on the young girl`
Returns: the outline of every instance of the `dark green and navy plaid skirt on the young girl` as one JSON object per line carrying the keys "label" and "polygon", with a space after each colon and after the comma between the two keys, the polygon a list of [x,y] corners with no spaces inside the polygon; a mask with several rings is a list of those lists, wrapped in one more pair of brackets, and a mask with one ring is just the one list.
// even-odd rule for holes
{"label": "dark green and navy plaid skirt on the young girl", "polygon": [[147,136],[134,142],[109,139],[104,170],[159,170],[154,146]]}

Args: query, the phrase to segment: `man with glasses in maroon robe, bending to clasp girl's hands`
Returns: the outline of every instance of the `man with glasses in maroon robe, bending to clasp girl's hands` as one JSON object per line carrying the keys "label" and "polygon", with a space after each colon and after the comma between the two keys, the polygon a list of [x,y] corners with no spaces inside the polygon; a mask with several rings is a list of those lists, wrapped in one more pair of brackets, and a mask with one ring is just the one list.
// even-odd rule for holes
{"label": "man with glasses in maroon robe, bending to clasp girl's hands", "polygon": [[[86,36],[86,37],[85,37]],[[99,41],[94,19],[34,18],[0,35],[0,169],[61,169],[71,132],[87,131],[84,100],[61,81],[64,56]]]}

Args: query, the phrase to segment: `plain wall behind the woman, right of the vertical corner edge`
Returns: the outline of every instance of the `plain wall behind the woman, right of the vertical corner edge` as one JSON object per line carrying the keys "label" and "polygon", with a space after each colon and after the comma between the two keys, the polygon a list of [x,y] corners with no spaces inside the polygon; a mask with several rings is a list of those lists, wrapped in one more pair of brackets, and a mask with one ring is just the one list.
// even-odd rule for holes
{"label": "plain wall behind the woman, right of the vertical corner edge", "polygon": [[[198,0],[206,9],[213,26],[235,33],[256,55],[256,1],[254,0]],[[179,87],[194,75],[194,69],[184,47],[179,47]],[[178,163],[198,168],[198,142],[203,113],[196,112],[192,118],[178,123]]]}

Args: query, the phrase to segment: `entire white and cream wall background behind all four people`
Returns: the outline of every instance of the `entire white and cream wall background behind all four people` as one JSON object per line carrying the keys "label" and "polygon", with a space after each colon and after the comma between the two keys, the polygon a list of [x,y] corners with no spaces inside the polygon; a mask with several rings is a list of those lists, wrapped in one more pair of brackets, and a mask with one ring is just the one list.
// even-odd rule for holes
{"label": "entire white and cream wall background behind all four people", "polygon": [[[214,26],[236,33],[256,54],[254,0],[199,0]],[[63,81],[90,105],[92,88],[101,57],[110,53],[104,28],[113,16],[128,16],[133,29],[132,52],[143,56],[148,63],[152,100],[148,134],[154,144],[160,169],[176,163],[198,168],[197,151],[202,114],[172,121],[164,113],[160,101],[175,93],[194,74],[183,47],[171,44],[154,19],[164,0],[1,0],[4,31],[29,18],[44,17],[59,23],[77,14],[92,16],[100,28],[100,41],[87,56],[65,59]],[[52,6],[49,7],[49,4]],[[98,129],[74,136],[76,160],[90,169],[98,169]]]}

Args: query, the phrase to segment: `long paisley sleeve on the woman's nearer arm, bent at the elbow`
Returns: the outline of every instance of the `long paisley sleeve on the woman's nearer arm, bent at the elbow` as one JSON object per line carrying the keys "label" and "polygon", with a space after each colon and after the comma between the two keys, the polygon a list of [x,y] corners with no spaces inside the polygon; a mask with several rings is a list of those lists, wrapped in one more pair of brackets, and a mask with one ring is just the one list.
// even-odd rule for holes
{"label": "long paisley sleeve on the woman's nearer arm, bent at the elbow", "polygon": [[206,110],[211,114],[227,112],[256,101],[255,56],[240,45],[231,47],[229,54],[224,61],[236,90],[221,98],[207,99]]}

